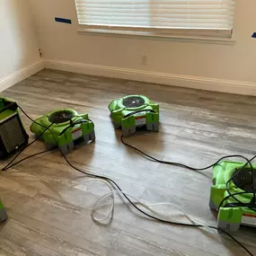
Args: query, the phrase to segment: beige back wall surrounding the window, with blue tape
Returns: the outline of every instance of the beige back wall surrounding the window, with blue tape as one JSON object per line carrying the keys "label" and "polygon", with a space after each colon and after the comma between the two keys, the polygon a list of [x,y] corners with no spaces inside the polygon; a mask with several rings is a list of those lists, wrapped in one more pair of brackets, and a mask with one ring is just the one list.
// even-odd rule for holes
{"label": "beige back wall surrounding the window, with blue tape", "polygon": [[[256,83],[256,1],[237,0],[234,45],[81,35],[74,0],[32,0],[46,59]],[[70,18],[72,25],[54,22]],[[148,65],[141,65],[147,54]]]}

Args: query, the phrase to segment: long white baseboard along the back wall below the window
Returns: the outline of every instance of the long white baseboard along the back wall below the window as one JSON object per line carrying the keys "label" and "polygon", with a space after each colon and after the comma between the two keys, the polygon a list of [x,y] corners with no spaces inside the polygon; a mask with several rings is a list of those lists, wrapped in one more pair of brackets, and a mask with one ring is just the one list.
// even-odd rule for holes
{"label": "long white baseboard along the back wall below the window", "polygon": [[100,66],[60,61],[55,59],[45,60],[45,66],[51,69],[82,73],[86,75],[102,75],[143,81],[146,83],[168,84],[214,92],[256,95],[256,84],[243,81],[223,80],[189,75],[173,75],[116,66]]}

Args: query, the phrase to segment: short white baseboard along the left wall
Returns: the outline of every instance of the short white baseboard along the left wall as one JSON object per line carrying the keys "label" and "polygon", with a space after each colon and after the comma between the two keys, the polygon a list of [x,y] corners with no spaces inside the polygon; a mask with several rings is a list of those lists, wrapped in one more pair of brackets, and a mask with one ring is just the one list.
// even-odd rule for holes
{"label": "short white baseboard along the left wall", "polygon": [[31,75],[39,72],[44,68],[43,61],[37,61],[31,64],[30,66],[25,66],[22,69],[17,70],[11,75],[0,79],[0,92],[3,92],[5,89],[13,86],[13,84],[17,84],[21,82],[23,79],[28,78]]}

